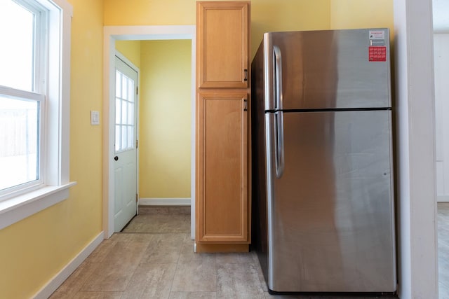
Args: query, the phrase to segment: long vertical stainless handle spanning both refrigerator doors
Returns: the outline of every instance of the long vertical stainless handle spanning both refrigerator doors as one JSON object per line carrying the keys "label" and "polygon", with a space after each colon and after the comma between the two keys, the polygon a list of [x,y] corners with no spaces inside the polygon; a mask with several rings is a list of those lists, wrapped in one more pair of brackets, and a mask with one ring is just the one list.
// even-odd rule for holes
{"label": "long vertical stainless handle spanning both refrigerator doors", "polygon": [[274,160],[276,164],[276,178],[281,179],[284,169],[283,151],[283,95],[282,95],[282,55],[278,46],[273,46],[274,50],[274,90],[276,95],[274,114]]}

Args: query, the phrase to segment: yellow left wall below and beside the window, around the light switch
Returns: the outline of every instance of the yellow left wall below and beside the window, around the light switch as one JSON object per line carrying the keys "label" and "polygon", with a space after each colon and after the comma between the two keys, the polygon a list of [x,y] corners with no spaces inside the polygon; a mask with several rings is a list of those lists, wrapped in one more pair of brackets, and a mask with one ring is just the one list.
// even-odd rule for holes
{"label": "yellow left wall below and beside the window, around the light switch", "polygon": [[68,200],[0,230],[0,298],[31,298],[102,230],[102,0],[69,0],[72,19]]}

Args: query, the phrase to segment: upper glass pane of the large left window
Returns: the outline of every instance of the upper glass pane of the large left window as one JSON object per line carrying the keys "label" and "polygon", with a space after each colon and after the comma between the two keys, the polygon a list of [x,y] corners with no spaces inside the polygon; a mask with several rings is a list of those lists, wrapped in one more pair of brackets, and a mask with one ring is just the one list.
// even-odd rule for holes
{"label": "upper glass pane of the large left window", "polygon": [[1,0],[0,41],[0,85],[34,91],[34,13]]}

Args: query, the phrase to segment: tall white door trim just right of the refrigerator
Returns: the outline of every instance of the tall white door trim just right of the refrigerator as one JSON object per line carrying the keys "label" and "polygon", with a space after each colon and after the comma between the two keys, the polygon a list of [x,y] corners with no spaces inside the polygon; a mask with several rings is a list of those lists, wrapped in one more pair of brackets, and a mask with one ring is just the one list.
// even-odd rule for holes
{"label": "tall white door trim just right of the refrigerator", "polygon": [[399,298],[438,298],[431,0],[394,0]]}

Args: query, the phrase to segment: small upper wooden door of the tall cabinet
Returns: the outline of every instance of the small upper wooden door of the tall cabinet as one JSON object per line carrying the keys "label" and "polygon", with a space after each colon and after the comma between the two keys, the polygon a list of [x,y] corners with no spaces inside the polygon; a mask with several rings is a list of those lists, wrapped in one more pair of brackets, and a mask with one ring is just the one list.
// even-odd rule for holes
{"label": "small upper wooden door of the tall cabinet", "polygon": [[245,1],[196,4],[199,88],[248,88],[248,15]]}

